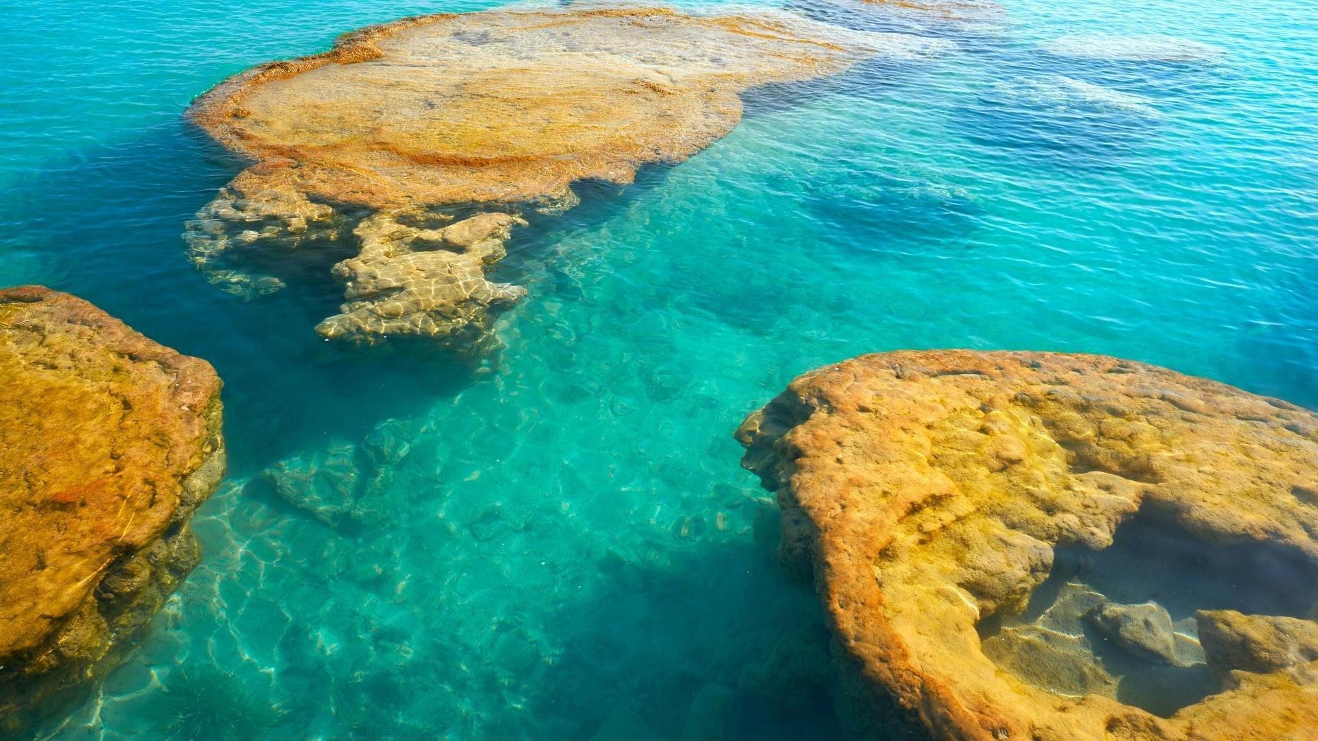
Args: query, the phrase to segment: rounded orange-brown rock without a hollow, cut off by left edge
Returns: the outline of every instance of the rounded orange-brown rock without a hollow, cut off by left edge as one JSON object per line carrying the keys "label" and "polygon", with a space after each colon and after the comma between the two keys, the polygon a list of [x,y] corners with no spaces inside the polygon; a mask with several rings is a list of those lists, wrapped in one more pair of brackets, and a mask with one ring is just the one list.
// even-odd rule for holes
{"label": "rounded orange-brown rock without a hollow, cut off by left edge", "polygon": [[0,290],[0,737],[113,668],[200,558],[220,380],[75,297]]}

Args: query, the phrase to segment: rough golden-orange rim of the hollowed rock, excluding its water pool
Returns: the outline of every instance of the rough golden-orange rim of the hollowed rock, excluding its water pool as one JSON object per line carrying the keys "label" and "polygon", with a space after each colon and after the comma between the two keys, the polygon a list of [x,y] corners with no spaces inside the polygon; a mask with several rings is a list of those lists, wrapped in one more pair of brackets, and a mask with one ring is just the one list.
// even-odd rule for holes
{"label": "rough golden-orange rim of the hollowed rock, excluding its water pool", "polygon": [[1112,357],[931,351],[807,373],[737,435],[743,465],[778,492],[784,564],[813,571],[870,705],[895,696],[940,738],[1318,728],[1313,662],[1232,666],[1220,692],[1157,717],[1040,690],[977,633],[1025,605],[1054,546],[1102,550],[1136,510],[1206,547],[1267,543],[1318,575],[1318,506],[1304,496],[1318,490],[1318,415]]}

